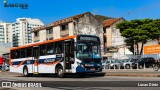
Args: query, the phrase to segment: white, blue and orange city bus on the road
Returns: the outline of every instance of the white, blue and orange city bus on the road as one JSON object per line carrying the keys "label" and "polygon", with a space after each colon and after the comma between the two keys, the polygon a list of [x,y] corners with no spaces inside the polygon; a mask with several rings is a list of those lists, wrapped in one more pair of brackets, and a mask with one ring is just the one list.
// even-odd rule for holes
{"label": "white, blue and orange city bus on the road", "polygon": [[100,39],[93,35],[74,35],[13,47],[10,72],[33,74],[67,73],[84,76],[102,71]]}

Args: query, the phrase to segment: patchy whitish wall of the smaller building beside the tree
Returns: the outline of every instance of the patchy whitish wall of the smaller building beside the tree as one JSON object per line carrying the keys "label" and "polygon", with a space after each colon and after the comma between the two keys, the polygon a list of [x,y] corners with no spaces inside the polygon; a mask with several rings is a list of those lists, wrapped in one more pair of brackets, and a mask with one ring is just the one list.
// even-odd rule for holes
{"label": "patchy whitish wall of the smaller building beside the tree", "polygon": [[125,46],[125,38],[121,36],[120,30],[116,28],[116,25],[122,21],[124,20],[120,19],[104,29],[106,30],[107,47],[115,47],[118,49],[118,51],[115,52],[106,52],[105,56],[119,59],[132,58],[133,56],[132,52]]}

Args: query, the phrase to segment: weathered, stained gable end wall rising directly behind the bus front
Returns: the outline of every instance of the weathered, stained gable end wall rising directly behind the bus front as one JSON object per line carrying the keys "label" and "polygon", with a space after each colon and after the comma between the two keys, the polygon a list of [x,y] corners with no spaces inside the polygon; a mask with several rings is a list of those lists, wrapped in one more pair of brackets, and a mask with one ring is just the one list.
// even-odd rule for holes
{"label": "weathered, stained gable end wall rising directly behind the bus front", "polygon": [[100,37],[101,50],[103,54],[103,25],[92,14],[87,13],[74,21],[74,34],[89,34]]}

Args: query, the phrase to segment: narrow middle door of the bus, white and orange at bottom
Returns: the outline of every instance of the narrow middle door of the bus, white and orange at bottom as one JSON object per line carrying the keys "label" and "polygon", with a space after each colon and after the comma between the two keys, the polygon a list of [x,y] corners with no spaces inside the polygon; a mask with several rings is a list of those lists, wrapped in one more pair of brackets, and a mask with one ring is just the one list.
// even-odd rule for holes
{"label": "narrow middle door of the bus, white and orange at bottom", "polygon": [[38,74],[39,47],[33,47],[33,73]]}

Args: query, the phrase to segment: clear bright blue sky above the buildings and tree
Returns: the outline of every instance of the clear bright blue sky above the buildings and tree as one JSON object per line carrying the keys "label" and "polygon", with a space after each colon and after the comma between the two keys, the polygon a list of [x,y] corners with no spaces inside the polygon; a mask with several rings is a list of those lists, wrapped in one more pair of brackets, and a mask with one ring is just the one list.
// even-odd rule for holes
{"label": "clear bright blue sky above the buildings and tree", "polygon": [[50,24],[84,12],[125,20],[160,18],[160,0],[7,0],[7,3],[28,4],[28,9],[4,7],[0,0],[0,20],[3,22],[26,17]]}

